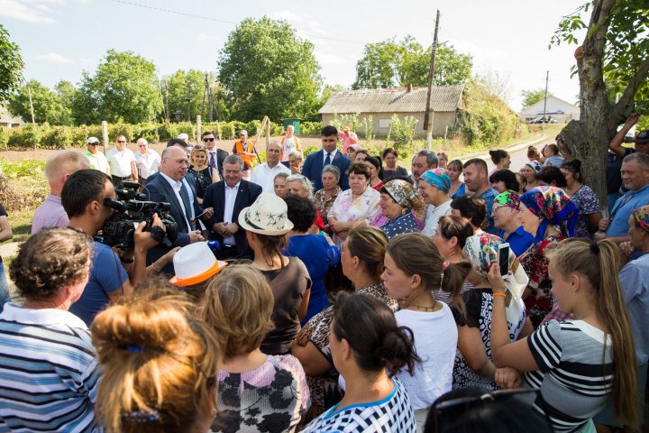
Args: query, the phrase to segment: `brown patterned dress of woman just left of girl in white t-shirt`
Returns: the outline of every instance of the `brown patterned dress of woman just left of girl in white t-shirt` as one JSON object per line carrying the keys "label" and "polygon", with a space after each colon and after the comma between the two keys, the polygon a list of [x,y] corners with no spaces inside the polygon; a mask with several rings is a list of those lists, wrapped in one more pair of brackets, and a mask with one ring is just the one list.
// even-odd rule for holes
{"label": "brown patterned dress of woman just left of girl in white t-shirt", "polygon": [[[358,290],[384,302],[392,311],[397,311],[398,304],[395,299],[388,296],[382,283],[372,284]],[[309,320],[297,334],[296,344],[302,347],[308,342],[315,345],[329,364],[334,365],[331,349],[329,348],[329,326],[334,318],[334,308],[328,307]],[[334,367],[327,373],[319,376],[306,376],[309,390],[311,391],[311,409],[306,420],[314,419],[318,415],[341,401],[343,393],[338,386],[338,372]]]}

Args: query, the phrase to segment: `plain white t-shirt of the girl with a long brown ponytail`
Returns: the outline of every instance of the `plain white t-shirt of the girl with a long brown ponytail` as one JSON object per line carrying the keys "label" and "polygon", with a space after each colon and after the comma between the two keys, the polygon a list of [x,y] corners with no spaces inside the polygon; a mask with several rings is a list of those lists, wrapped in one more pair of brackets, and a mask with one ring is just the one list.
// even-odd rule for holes
{"label": "plain white t-shirt of the girl with a long brown ponytail", "polygon": [[416,353],[422,359],[412,376],[406,370],[397,374],[413,410],[431,407],[439,396],[452,389],[458,332],[451,309],[443,302],[440,304],[439,311],[400,309],[395,313],[398,326],[409,327],[415,334]]}

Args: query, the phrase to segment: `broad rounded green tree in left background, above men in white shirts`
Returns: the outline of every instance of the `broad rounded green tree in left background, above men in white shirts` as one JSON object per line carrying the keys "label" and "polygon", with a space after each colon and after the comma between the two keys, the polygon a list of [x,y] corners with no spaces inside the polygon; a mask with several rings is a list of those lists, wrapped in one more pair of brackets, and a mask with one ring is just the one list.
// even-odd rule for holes
{"label": "broad rounded green tree in left background, above men in white shirts", "polygon": [[133,51],[109,50],[95,75],[83,73],[73,112],[82,124],[102,120],[137,124],[161,112],[156,67]]}

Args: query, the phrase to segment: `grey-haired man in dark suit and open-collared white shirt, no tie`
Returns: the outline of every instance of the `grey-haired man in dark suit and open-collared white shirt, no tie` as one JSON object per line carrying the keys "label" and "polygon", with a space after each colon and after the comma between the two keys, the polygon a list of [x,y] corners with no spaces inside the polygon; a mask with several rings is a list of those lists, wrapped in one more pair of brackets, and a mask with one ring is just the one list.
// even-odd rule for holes
{"label": "grey-haired man in dark suit and open-collared white shirt, no tie", "polygon": [[249,207],[261,194],[261,187],[248,180],[242,180],[243,161],[237,155],[224,160],[224,180],[213,183],[206,189],[204,207],[214,207],[214,215],[207,227],[211,237],[221,243],[216,252],[220,260],[239,257],[251,258],[245,230],[237,224],[243,207]]}

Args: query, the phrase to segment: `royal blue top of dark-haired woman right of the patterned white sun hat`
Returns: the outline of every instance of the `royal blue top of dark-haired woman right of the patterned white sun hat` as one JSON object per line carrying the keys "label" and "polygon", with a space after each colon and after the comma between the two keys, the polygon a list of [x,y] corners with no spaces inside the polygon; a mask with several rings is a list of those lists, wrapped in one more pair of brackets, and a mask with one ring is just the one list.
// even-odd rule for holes
{"label": "royal blue top of dark-haired woman right of the patterned white sun hat", "polygon": [[324,288],[324,275],[329,268],[340,263],[340,252],[337,246],[330,245],[322,235],[296,235],[288,238],[286,255],[297,257],[305,263],[306,271],[311,277],[311,297],[309,298],[304,326],[309,318],[314,317],[329,307],[329,297]]}

